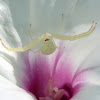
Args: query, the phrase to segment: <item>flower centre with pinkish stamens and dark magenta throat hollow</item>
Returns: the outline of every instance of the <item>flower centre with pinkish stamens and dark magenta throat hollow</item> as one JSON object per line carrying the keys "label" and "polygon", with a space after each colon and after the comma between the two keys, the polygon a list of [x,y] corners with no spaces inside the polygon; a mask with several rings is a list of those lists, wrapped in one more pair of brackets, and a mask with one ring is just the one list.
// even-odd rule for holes
{"label": "flower centre with pinkish stamens and dark magenta throat hollow", "polygon": [[70,85],[64,85],[60,89],[58,89],[55,86],[55,83],[52,79],[50,79],[48,84],[46,85],[45,93],[46,95],[44,97],[37,97],[37,99],[38,100],[69,100],[73,95],[73,91]]}

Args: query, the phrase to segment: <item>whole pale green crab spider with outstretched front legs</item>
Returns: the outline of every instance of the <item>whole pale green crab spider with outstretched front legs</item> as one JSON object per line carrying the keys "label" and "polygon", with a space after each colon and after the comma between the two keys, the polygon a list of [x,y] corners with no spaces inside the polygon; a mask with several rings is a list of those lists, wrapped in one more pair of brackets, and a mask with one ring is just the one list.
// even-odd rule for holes
{"label": "whole pale green crab spider with outstretched front legs", "polygon": [[59,48],[55,45],[53,38],[60,40],[74,41],[89,36],[95,30],[95,28],[96,28],[96,23],[94,23],[93,21],[91,28],[87,32],[74,36],[44,33],[41,37],[32,40],[32,42],[25,45],[24,47],[17,47],[17,48],[8,48],[3,44],[1,39],[0,41],[5,49],[7,49],[8,51],[15,51],[15,52],[25,52],[27,50],[30,50],[32,47],[36,46],[41,41],[42,42],[41,48],[36,52],[40,51],[44,55],[49,55],[52,54],[56,50],[56,48]]}

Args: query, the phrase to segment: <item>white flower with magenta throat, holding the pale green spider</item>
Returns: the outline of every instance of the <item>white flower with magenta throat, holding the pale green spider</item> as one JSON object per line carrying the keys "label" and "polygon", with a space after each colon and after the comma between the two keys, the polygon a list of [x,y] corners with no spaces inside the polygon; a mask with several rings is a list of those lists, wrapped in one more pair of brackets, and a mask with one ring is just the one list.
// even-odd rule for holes
{"label": "white flower with magenta throat, holding the pale green spider", "polygon": [[[0,38],[7,47],[23,46],[45,32],[79,34],[99,23],[98,0],[0,0]],[[58,41],[65,47],[46,56],[9,52],[0,44],[1,100],[99,100],[99,24],[86,38]],[[35,48],[36,49],[36,48]]]}

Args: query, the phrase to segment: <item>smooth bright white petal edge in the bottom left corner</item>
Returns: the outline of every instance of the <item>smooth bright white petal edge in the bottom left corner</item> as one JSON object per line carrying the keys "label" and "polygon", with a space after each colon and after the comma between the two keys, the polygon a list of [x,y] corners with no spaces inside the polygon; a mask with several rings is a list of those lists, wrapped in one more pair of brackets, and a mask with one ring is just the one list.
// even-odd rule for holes
{"label": "smooth bright white petal edge in the bottom left corner", "polygon": [[0,75],[1,100],[36,100],[34,96]]}

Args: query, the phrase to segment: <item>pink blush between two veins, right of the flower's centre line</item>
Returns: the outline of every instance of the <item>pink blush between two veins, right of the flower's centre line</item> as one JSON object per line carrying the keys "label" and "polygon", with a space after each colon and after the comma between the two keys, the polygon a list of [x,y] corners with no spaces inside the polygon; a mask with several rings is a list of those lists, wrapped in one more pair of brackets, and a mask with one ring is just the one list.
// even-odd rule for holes
{"label": "pink blush between two veins, right of the flower's centre line", "polygon": [[66,83],[71,83],[72,72],[71,62],[68,62],[67,59],[62,56],[56,65],[56,71],[53,77],[56,86],[59,88]]}

